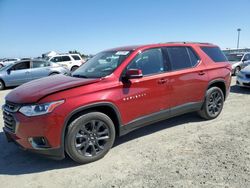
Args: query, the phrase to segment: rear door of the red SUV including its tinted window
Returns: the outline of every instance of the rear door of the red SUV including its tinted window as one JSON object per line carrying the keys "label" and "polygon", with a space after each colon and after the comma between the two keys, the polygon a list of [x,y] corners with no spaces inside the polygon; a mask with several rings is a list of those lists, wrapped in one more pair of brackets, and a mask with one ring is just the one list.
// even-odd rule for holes
{"label": "rear door of the red SUV including its tinted window", "polygon": [[[206,91],[205,65],[191,47],[164,47],[164,55],[171,72],[167,73],[170,106],[178,109],[183,105],[201,103]],[[169,103],[166,104],[169,106]]]}

